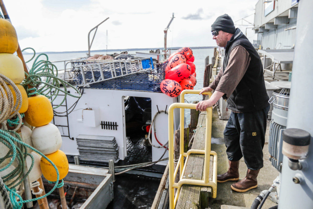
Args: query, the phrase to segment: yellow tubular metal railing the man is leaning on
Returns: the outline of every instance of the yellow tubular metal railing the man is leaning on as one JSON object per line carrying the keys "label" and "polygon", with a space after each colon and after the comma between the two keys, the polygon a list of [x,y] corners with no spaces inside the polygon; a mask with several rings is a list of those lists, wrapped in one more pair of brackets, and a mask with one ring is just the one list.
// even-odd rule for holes
{"label": "yellow tubular metal railing the man is leaning on", "polygon": [[[216,185],[217,185],[217,154],[211,151],[211,131],[212,131],[212,107],[206,109],[206,129],[205,129],[205,148],[204,150],[190,149],[187,153],[184,152],[184,109],[196,109],[196,104],[186,104],[185,94],[199,94],[201,90],[184,90],[180,94],[180,103],[173,103],[168,109],[168,151],[169,151],[169,196],[170,196],[170,209],[175,208],[180,188],[183,184],[210,186],[213,189],[213,198],[216,198]],[[212,95],[211,92],[205,92],[203,94]],[[180,108],[180,156],[177,166],[174,171],[174,119],[173,111],[175,108]],[[189,155],[191,153],[204,154],[204,168],[203,168],[203,180],[183,179],[185,167],[184,157],[188,162]],[[209,180],[209,166],[210,155],[213,155],[213,176],[212,181]],[[174,182],[177,175],[178,168],[180,169],[179,181]],[[174,188],[177,188],[177,193],[174,196]]]}

